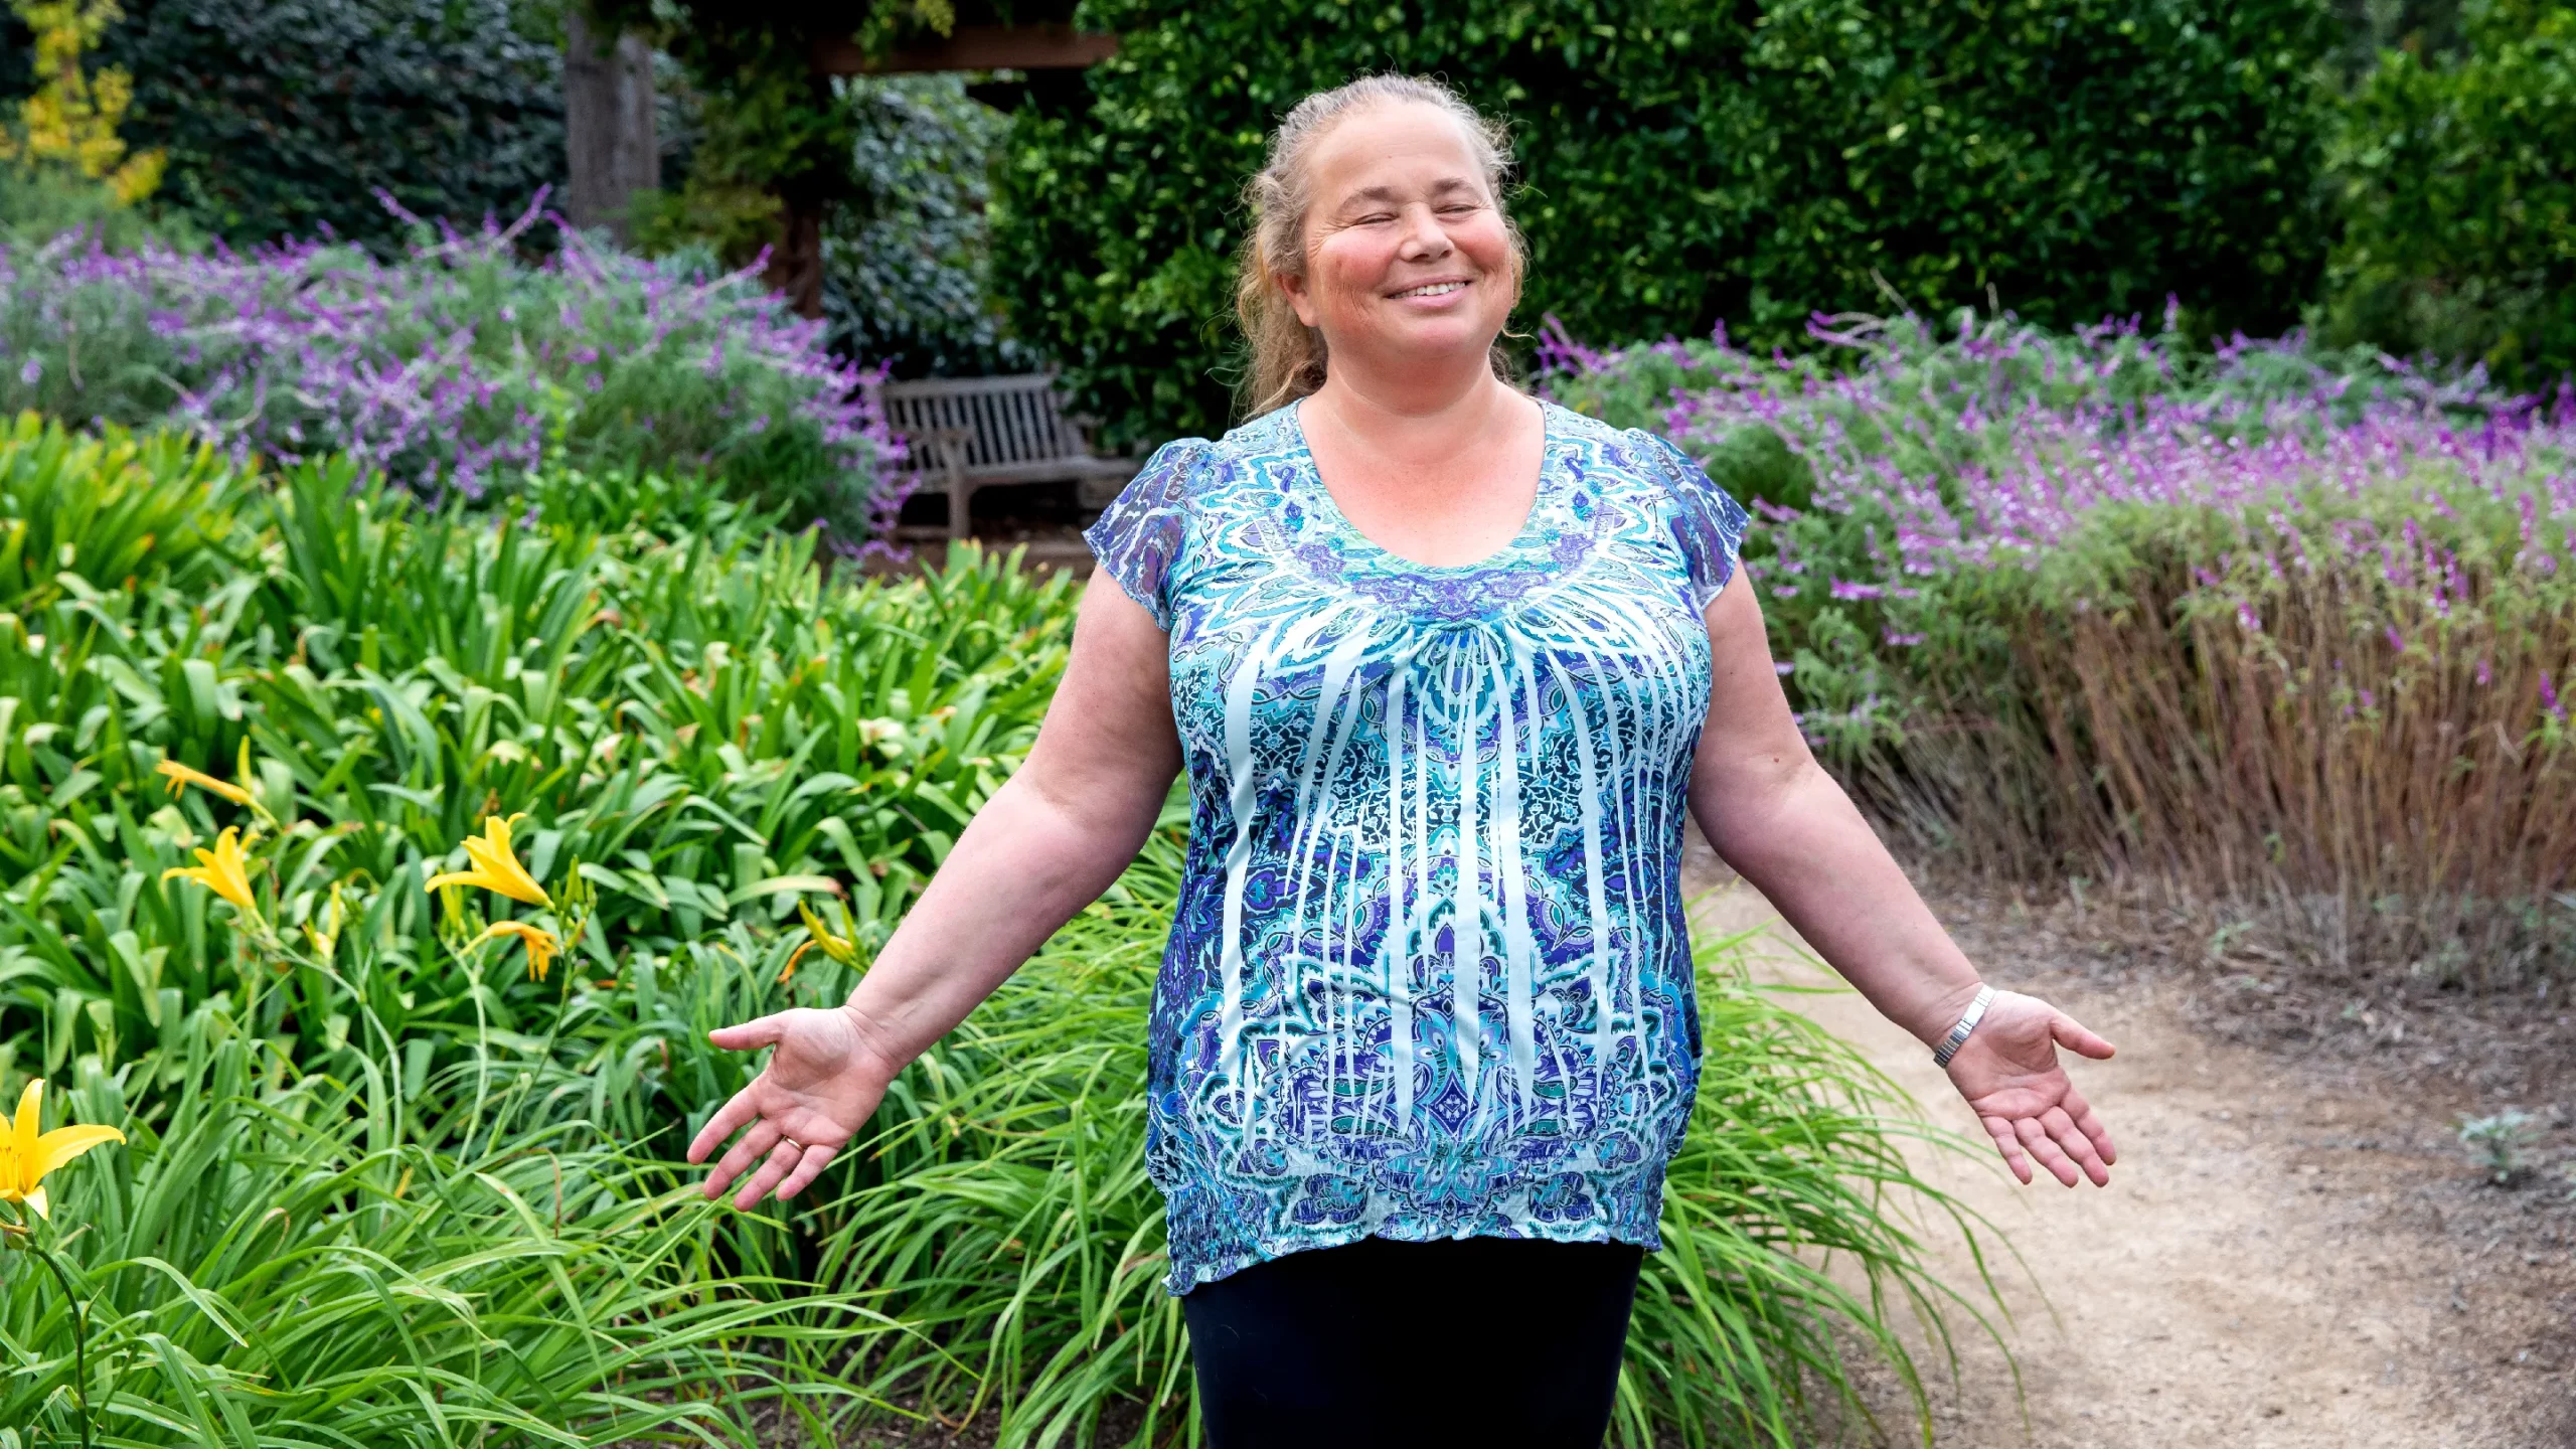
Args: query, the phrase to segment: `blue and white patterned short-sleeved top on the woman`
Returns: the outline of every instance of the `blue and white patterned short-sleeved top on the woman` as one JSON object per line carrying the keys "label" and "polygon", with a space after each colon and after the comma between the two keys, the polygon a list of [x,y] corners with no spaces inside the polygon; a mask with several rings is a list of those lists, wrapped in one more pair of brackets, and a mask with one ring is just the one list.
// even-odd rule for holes
{"label": "blue and white patterned short-sleeved top on the woman", "polygon": [[1190,771],[1146,1067],[1175,1294],[1368,1235],[1662,1248],[1703,608],[1747,518],[1540,407],[1538,498],[1473,565],[1360,536],[1293,405],[1167,443],[1084,534],[1172,637]]}

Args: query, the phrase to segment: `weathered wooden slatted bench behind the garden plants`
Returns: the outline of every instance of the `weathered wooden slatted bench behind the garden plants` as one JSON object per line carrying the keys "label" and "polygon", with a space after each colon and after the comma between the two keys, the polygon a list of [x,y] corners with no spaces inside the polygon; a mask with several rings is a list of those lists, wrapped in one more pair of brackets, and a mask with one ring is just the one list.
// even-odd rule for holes
{"label": "weathered wooden slatted bench behind the garden plants", "polygon": [[1136,459],[1092,456],[1084,420],[1064,413],[1051,374],[889,382],[884,397],[914,472],[948,492],[951,539],[966,536],[969,500],[984,485],[1072,482],[1077,503],[1103,508],[1136,477]]}

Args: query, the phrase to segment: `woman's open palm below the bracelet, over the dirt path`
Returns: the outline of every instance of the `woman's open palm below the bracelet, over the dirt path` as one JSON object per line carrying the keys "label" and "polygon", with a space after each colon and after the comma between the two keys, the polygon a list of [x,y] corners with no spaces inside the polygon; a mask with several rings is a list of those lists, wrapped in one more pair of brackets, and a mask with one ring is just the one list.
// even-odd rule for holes
{"label": "woman's open palm below the bracelet, over the dirt path", "polygon": [[1999,990],[1950,1057],[1950,1085],[1976,1109],[2012,1176],[2027,1183],[2030,1158],[2038,1158],[2066,1186],[2076,1186],[2076,1176],[2110,1186],[2110,1165],[2120,1155],[2076,1083],[2066,1080],[2058,1047],[2094,1060],[2112,1052],[2074,1016],[2035,995]]}

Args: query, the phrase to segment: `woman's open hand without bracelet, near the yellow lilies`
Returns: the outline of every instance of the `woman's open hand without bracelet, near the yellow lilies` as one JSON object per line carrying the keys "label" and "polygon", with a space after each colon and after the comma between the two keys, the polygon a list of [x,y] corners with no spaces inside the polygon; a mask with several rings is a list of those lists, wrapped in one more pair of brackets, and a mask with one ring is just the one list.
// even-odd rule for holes
{"label": "woman's open hand without bracelet, near the yellow lilies", "polygon": [[739,1209],[755,1207],[770,1189],[778,1189],[781,1199],[804,1191],[868,1124],[894,1080],[894,1067],[868,1044],[866,1026],[848,1006],[799,1006],[739,1026],[719,1026],[706,1039],[726,1052],[778,1047],[752,1085],[737,1091],[688,1145],[688,1160],[703,1163],[719,1142],[750,1127],[706,1173],[706,1196],[716,1199],[744,1168],[768,1155],[734,1194]]}

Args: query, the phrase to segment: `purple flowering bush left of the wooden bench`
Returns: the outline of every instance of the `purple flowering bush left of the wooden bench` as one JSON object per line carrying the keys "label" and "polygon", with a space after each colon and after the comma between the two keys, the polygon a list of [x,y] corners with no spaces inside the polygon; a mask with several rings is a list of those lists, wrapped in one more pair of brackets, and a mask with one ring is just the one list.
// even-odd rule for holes
{"label": "purple flowering bush left of the wooden bench", "polygon": [[[528,263],[538,224],[554,253]],[[167,420],[286,464],[348,454],[430,500],[577,467],[708,474],[840,547],[891,521],[878,374],[755,276],[605,250],[533,204],[415,235],[397,263],[332,242],[0,248],[0,407]]]}

